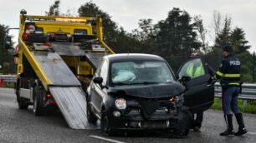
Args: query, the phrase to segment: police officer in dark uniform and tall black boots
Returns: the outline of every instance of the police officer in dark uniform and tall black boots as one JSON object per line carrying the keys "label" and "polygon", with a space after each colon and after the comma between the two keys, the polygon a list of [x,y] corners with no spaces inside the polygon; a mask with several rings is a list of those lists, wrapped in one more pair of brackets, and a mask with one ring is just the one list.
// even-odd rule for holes
{"label": "police officer in dark uniform and tall black boots", "polygon": [[[237,57],[233,56],[233,48],[230,45],[223,47],[223,61],[219,67],[215,79],[220,79],[220,84],[222,86],[222,104],[224,119],[227,123],[228,129],[220,133],[220,136],[235,135],[241,136],[247,133],[244,123],[243,115],[238,109],[238,94],[241,91],[240,84],[240,62]],[[238,121],[238,131],[234,133],[233,131],[233,119],[232,113],[236,116]]]}

